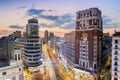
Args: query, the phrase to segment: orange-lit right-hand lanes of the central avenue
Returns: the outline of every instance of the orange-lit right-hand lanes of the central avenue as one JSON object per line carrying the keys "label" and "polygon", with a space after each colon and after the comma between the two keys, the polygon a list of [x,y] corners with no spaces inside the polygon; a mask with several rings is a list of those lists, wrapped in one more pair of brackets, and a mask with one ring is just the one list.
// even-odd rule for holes
{"label": "orange-lit right-hand lanes of the central avenue", "polygon": [[53,64],[52,67],[54,67],[56,78],[54,80],[74,80],[73,76],[71,76],[61,64],[59,64],[59,61],[57,60],[56,56],[52,53],[50,48],[45,45],[45,48],[47,48],[49,58]]}

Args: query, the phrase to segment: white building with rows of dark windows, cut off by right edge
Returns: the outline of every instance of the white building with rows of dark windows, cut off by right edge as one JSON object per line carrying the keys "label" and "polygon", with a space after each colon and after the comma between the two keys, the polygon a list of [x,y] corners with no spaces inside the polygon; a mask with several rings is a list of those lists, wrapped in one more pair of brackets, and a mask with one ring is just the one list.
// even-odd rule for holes
{"label": "white building with rows of dark windows, cut off by right edge", "polygon": [[112,36],[111,80],[120,80],[120,32]]}

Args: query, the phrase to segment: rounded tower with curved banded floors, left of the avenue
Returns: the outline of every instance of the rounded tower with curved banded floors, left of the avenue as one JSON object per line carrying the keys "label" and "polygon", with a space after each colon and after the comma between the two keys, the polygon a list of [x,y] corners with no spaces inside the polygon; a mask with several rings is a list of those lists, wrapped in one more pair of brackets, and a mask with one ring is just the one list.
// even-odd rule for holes
{"label": "rounded tower with curved banded floors, left of the avenue", "polygon": [[26,26],[24,64],[32,72],[42,64],[40,61],[41,44],[39,38],[39,25],[37,19],[29,19]]}

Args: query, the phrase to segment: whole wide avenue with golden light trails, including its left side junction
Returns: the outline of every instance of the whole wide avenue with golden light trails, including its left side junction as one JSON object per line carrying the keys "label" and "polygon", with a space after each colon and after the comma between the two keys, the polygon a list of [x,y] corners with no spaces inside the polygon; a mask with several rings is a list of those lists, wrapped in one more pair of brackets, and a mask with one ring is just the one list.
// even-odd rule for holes
{"label": "whole wide avenue with golden light trails, including its left side junction", "polygon": [[24,70],[24,80],[74,80],[63,66],[59,63],[56,56],[47,45],[43,45],[43,64],[40,65],[40,71],[34,74]]}

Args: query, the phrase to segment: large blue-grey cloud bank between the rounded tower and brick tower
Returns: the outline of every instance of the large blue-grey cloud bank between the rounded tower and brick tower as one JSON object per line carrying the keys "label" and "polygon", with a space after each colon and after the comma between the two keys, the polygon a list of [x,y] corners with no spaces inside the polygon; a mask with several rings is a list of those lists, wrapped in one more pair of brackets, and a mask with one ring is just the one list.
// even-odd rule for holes
{"label": "large blue-grey cloud bank between the rounded tower and brick tower", "polygon": [[37,16],[38,18],[43,18],[46,20],[54,21],[54,23],[46,24],[40,23],[42,27],[60,27],[64,29],[74,29],[75,27],[75,16],[73,14],[67,13],[61,16],[52,15],[52,14],[45,14],[45,13],[52,13],[54,10],[45,10],[45,9],[29,9],[26,12],[27,16]]}

